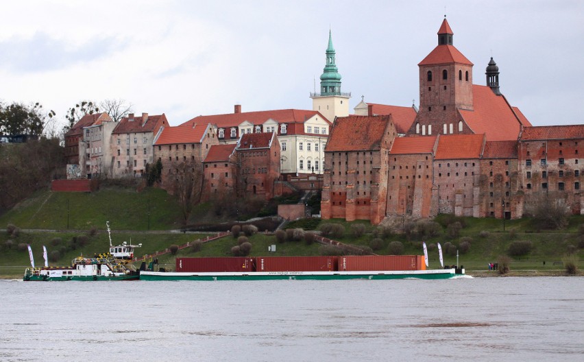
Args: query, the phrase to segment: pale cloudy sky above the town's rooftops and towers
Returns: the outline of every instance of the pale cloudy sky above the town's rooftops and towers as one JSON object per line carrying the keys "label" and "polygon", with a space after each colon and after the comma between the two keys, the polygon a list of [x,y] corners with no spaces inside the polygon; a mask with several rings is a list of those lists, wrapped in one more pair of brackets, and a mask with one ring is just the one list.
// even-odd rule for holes
{"label": "pale cloudy sky above the town's rooftops and towers", "polygon": [[580,0],[0,1],[0,101],[39,101],[63,120],[86,99],[125,99],[171,125],[235,104],[311,110],[329,29],[351,110],[361,96],[418,106],[417,64],[446,11],[474,84],[493,56],[501,92],[533,125],[584,123]]}

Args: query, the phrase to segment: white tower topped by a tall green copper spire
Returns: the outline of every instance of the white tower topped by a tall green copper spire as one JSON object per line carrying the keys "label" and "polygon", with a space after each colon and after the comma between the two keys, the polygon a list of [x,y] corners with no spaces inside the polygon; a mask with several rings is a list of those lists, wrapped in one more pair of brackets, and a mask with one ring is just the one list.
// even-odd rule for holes
{"label": "white tower topped by a tall green copper spire", "polygon": [[337,52],[332,47],[332,34],[328,31],[326,63],[320,76],[320,93],[311,93],[313,110],[321,112],[329,121],[334,117],[349,115],[349,98],[351,93],[341,93],[341,75],[337,68]]}

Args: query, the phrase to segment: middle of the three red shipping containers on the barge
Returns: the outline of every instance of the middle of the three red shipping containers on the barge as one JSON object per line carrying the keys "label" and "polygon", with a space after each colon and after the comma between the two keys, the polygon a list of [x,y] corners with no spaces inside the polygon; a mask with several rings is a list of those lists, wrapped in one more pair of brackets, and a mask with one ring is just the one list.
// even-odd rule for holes
{"label": "middle of the three red shipping containers on the barge", "polygon": [[256,272],[334,272],[336,256],[258,256]]}

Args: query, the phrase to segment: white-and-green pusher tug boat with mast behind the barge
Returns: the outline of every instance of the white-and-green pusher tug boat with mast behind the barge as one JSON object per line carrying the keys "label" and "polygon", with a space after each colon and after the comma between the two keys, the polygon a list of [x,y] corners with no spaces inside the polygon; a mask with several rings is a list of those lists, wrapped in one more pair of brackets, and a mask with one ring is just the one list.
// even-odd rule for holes
{"label": "white-and-green pusher tug boat with mast behind the barge", "polygon": [[[99,254],[94,258],[78,256],[73,259],[71,266],[49,267],[45,250],[45,266],[34,267],[32,251],[29,254],[32,267],[25,270],[24,281],[49,281],[49,280],[138,280],[140,272],[134,265],[127,263],[134,257],[134,248],[140,248],[142,244],[128,245],[125,241],[121,245],[112,245],[110,223],[108,237],[110,239],[110,252]],[[44,247],[43,247],[44,248]]]}

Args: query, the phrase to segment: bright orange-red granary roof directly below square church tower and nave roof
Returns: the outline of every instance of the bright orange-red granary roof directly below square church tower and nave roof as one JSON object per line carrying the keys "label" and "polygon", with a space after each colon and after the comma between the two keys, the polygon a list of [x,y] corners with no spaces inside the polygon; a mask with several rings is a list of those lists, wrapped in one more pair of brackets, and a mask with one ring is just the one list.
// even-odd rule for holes
{"label": "bright orange-red granary roof directly below square church tower and nave roof", "polygon": [[436,149],[436,160],[478,158],[483,149],[484,134],[440,135]]}

